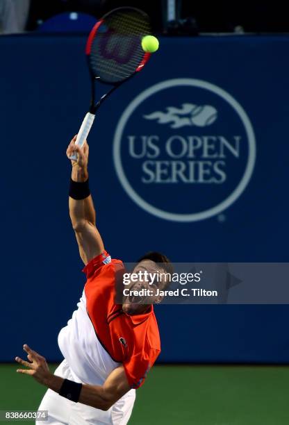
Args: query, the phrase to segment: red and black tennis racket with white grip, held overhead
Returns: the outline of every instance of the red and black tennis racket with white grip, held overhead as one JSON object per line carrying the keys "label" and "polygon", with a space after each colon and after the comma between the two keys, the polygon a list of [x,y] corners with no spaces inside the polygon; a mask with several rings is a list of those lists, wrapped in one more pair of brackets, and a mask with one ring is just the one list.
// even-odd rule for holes
{"label": "red and black tennis racket with white grip, held overhead", "polygon": [[[151,35],[151,24],[145,12],[136,8],[117,8],[94,25],[85,53],[91,78],[91,101],[75,143],[83,146],[101,103],[129,78],[145,67],[151,53],[142,49],[142,38]],[[112,85],[99,101],[95,99],[95,83]],[[70,157],[76,160],[76,153]]]}

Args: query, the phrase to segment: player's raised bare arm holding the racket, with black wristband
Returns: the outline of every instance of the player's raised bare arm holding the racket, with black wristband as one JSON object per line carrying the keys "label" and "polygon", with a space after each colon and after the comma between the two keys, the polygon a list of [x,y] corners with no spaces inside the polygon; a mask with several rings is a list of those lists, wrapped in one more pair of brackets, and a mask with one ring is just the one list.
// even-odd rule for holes
{"label": "player's raised bare arm holding the racket, with black wristband", "polygon": [[72,178],[69,188],[69,215],[72,220],[79,253],[86,265],[92,258],[104,251],[104,243],[95,226],[95,210],[88,186],[88,143],[76,146],[76,136],[69,143],[67,157],[77,153],[77,160],[72,160]]}

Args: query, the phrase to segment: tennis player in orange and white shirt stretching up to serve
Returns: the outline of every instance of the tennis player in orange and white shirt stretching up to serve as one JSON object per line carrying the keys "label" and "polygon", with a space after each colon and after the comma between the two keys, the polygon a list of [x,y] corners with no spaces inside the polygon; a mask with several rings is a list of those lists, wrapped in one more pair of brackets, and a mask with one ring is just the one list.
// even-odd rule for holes
{"label": "tennis player in orange and white shirt stretching up to serve", "polygon": [[[88,144],[67,148],[74,151],[69,188],[69,215],[85,264],[87,277],[78,309],[58,335],[64,360],[55,374],[49,372],[44,357],[24,345],[28,361],[15,360],[28,367],[17,372],[33,376],[48,387],[39,410],[48,410],[47,424],[117,424],[129,421],[135,389],[160,353],[160,336],[152,303],[160,302],[157,288],[165,289],[165,277],[149,285],[152,296],[127,296],[115,302],[115,284],[125,270],[122,261],[110,258],[95,226],[95,211],[88,185]],[[162,263],[160,266],[157,263]],[[169,260],[160,253],[148,253],[134,272],[171,272]],[[145,281],[131,282],[129,288],[146,288]],[[36,421],[36,424],[42,422]]]}

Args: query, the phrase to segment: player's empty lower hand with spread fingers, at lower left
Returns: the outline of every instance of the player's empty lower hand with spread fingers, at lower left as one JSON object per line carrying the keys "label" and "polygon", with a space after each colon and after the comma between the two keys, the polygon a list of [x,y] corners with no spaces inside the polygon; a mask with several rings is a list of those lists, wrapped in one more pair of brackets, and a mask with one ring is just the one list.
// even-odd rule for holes
{"label": "player's empty lower hand with spread fingers, at lower left", "polygon": [[44,357],[33,351],[27,344],[23,346],[24,351],[27,353],[28,362],[20,357],[16,357],[15,360],[20,365],[28,367],[28,369],[17,369],[20,374],[31,375],[33,378],[43,385],[47,385],[51,373]]}

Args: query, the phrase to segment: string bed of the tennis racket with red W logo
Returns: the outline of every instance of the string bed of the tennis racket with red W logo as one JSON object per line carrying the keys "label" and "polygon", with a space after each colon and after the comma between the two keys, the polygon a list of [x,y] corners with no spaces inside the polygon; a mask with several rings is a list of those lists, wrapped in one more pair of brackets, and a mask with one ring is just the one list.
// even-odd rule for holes
{"label": "string bed of the tennis racket with red W logo", "polygon": [[107,83],[131,76],[145,54],[142,37],[150,33],[147,15],[138,10],[109,14],[92,40],[90,66],[94,76]]}

